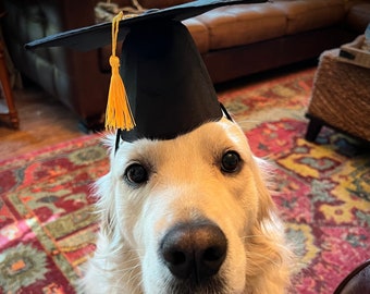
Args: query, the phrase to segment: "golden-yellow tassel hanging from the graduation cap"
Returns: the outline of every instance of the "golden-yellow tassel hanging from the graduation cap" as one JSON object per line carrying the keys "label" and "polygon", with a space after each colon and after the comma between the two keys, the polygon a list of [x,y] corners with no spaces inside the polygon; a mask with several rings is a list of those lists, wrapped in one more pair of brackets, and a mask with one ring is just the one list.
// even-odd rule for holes
{"label": "golden-yellow tassel hanging from the graduation cap", "polygon": [[121,11],[112,21],[112,56],[109,59],[112,75],[106,110],[106,128],[121,128],[130,131],[134,128],[135,121],[130,108],[126,90],[120,75],[120,59],[115,56],[120,21],[122,17],[123,13]]}

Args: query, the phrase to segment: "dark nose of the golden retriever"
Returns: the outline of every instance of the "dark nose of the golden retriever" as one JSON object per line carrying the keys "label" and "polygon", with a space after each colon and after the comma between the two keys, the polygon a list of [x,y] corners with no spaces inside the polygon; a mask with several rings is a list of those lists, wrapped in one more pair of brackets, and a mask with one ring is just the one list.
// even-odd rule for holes
{"label": "dark nose of the golden retriever", "polygon": [[160,254],[173,275],[201,283],[218,273],[225,260],[227,241],[214,223],[182,223],[163,237]]}

